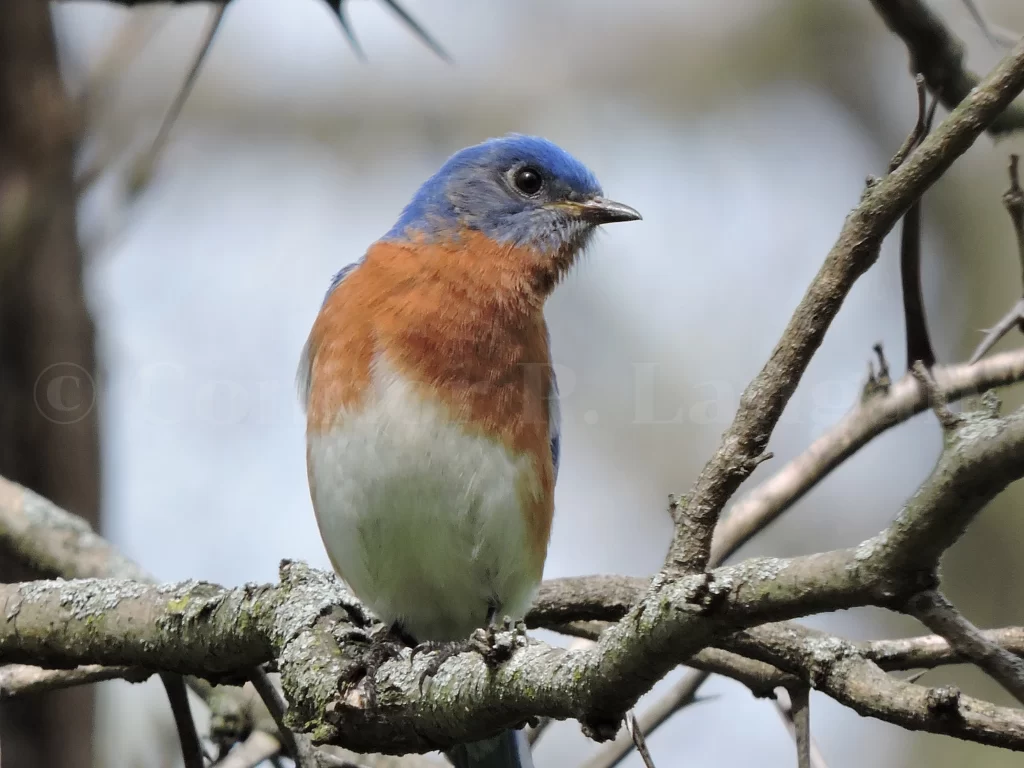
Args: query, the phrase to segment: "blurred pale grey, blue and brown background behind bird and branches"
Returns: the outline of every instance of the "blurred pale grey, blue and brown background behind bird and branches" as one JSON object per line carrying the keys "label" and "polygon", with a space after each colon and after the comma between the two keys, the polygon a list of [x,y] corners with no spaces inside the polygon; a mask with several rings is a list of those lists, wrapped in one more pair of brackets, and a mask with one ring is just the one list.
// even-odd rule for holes
{"label": "blurred pale grey, blue and brown background behind bird and branches", "polygon": [[[449,155],[509,131],[558,142],[644,215],[609,227],[549,303],[565,424],[546,575],[653,572],[668,495],[692,482],[865,175],[885,171],[915,116],[903,44],[852,0],[404,0],[455,66],[382,3],[347,4],[360,62],[325,3],[239,0],[144,164],[209,7],[8,2],[0,472],[101,519],[166,580],[272,581],[284,557],[328,566],[294,387],[323,293]],[[1018,3],[980,4],[1024,30]],[[930,5],[987,71],[999,51],[961,0]],[[966,356],[1019,297],[999,196],[1021,146],[981,139],[926,198],[942,361]],[[855,401],[873,343],[902,375],[895,246],[854,289],[752,483]],[[67,392],[69,381],[94,389]],[[856,544],[939,447],[928,416],[886,434],[739,556]],[[1024,623],[1021,498],[1011,488],[946,558],[948,592],[982,626]],[[873,610],[813,623],[857,639],[922,634]],[[926,682],[1010,702],[967,669]],[[156,681],[95,690],[94,738],[89,691],[0,710],[3,768],[177,765]],[[791,765],[770,702],[717,678],[703,693],[649,739],[659,768]],[[1019,765],[814,703],[833,768]],[[595,749],[563,723],[536,760],[573,766]]]}

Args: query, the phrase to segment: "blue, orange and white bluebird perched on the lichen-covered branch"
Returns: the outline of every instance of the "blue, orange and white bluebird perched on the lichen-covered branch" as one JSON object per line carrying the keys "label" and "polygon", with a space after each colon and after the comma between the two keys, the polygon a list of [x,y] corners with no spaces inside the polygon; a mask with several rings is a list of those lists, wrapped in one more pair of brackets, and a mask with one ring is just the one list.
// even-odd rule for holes
{"label": "blue, orange and white bluebird perched on the lichen-covered branch", "polygon": [[[310,496],[335,570],[404,636],[525,615],[558,473],[544,302],[597,225],[639,218],[513,134],[449,159],[332,282],[299,366]],[[514,731],[449,757],[531,766]]]}

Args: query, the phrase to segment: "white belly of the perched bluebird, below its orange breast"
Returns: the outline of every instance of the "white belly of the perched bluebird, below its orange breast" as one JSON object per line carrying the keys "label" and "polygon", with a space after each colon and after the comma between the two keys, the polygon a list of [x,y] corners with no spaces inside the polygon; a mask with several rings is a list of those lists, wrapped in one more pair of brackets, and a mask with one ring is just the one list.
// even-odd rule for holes
{"label": "white belly of the perched bluebird, below its orange breast", "polygon": [[340,575],[421,641],[467,638],[492,604],[499,618],[521,617],[538,583],[520,501],[539,493],[529,459],[467,434],[375,369],[365,408],[308,436],[316,517]]}

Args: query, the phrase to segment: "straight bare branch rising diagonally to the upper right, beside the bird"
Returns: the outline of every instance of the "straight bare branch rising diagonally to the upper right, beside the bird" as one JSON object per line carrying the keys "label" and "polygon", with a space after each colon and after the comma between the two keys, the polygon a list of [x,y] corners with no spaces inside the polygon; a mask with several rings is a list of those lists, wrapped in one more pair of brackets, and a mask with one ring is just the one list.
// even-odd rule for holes
{"label": "straight bare branch rising diagonally to the upper right, beside the bird", "polygon": [[874,263],[882,239],[1024,88],[1024,42],[910,153],[872,183],[847,217],[771,356],[743,391],[732,424],[705,466],[679,519],[667,575],[708,564],[715,524],[764,453],[775,424],[856,280]]}

